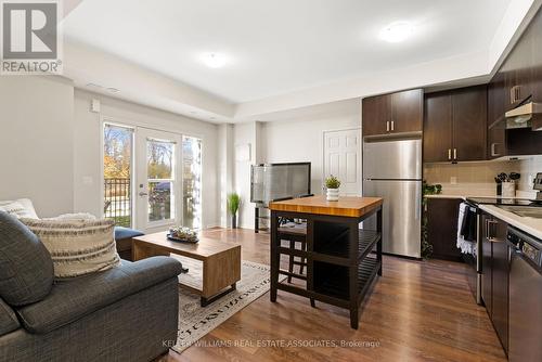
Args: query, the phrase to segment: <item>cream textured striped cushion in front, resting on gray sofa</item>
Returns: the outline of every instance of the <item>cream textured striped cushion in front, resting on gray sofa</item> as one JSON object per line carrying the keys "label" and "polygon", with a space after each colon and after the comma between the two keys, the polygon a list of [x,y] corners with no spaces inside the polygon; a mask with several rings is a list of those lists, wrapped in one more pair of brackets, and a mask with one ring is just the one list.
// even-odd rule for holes
{"label": "cream textured striped cushion in front, resting on gray sofa", "polygon": [[49,249],[55,279],[104,271],[120,262],[113,235],[114,222],[111,220],[21,221]]}

